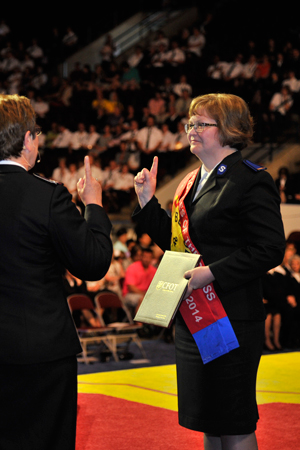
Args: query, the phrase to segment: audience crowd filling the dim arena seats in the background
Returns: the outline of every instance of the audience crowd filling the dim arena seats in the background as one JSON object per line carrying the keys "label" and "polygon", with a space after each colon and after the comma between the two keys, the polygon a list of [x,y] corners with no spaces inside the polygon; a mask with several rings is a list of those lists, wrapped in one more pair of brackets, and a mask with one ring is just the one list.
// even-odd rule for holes
{"label": "audience crowd filling the dim arena seats in the background", "polygon": [[[103,186],[105,209],[120,211],[133,198],[134,175],[149,167],[154,155],[159,156],[158,183],[188,163],[184,124],[189,105],[194,96],[208,92],[240,95],[255,120],[254,141],[279,143],[291,121],[299,123],[300,44],[267,36],[263,42],[240,42],[233,54],[211,45],[211,38],[209,28],[199,22],[174,36],[159,30],[121,59],[114,56],[108,34],[94,67],[78,61],[62,77],[55,40],[51,49],[35,38],[26,46],[2,20],[0,91],[25,95],[34,106],[42,129],[41,162],[35,171],[64,183],[82,211],[76,184],[83,156],[89,154],[93,176]],[[58,53],[67,57],[77,45],[69,28]],[[298,177],[282,167],[275,182],[282,202],[300,202]],[[103,280],[91,283],[66,273],[66,293],[87,292],[93,299],[100,290],[112,290],[134,314],[161,258],[148,236],[136,236],[128,236],[127,230],[115,236],[111,269]],[[264,279],[265,344],[271,351],[300,345],[298,254],[295,243],[287,242],[282,265]]]}

